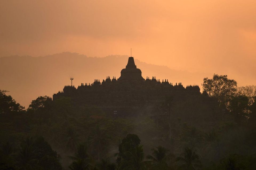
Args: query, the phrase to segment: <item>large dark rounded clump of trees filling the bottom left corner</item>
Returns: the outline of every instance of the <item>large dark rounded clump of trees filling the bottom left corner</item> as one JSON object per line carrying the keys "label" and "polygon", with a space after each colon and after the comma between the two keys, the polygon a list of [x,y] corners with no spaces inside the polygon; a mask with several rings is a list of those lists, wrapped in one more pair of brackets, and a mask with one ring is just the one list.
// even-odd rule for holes
{"label": "large dark rounded clump of trees filling the bottom left corner", "polygon": [[18,147],[9,141],[1,145],[0,169],[63,169],[60,156],[43,137],[26,137]]}

